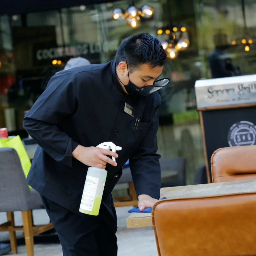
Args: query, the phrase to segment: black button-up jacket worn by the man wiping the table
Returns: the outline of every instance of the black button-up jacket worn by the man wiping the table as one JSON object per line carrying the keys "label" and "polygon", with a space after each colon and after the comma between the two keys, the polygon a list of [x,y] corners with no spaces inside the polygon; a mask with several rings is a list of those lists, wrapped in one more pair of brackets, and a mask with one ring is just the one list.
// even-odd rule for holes
{"label": "black button-up jacket worn by the man wiping the table", "polygon": [[[117,80],[115,66],[112,60],[54,75],[23,119],[24,128],[39,145],[28,184],[78,214],[88,169],[72,157],[78,144],[96,147],[112,141],[122,147],[117,152],[117,166],[106,166],[103,200],[120,179],[128,159],[137,195],[160,197],[160,156],[156,154],[160,96],[154,92],[129,97]],[[124,112],[125,102],[134,108],[133,117]],[[135,129],[137,118],[140,122]]]}

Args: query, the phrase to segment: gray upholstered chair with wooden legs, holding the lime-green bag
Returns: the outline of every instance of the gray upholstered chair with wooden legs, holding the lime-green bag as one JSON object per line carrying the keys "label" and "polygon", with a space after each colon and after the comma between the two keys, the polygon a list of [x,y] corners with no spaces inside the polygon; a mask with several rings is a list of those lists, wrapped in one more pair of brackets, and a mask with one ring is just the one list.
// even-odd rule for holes
{"label": "gray upholstered chair with wooden legs, holding the lime-green bag", "polygon": [[[24,230],[28,256],[34,256],[34,236],[53,228],[33,224],[32,210],[43,207],[39,194],[28,188],[20,164],[20,158],[13,148],[0,148],[0,212],[7,213],[7,222],[0,225],[0,231],[9,231],[12,253],[17,253],[17,230]],[[22,212],[23,226],[14,224],[15,211]]]}

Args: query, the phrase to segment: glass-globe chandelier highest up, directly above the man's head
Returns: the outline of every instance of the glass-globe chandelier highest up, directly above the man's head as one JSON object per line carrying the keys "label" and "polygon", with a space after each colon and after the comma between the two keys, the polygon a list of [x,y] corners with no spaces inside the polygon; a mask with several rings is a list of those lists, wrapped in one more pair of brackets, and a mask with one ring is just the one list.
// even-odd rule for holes
{"label": "glass-globe chandelier highest up, directly above the man's head", "polygon": [[114,20],[124,20],[126,19],[127,24],[132,28],[137,28],[140,26],[140,21],[143,19],[151,19],[154,14],[153,7],[149,5],[143,5],[137,8],[133,1],[130,1],[130,5],[126,10],[116,8],[112,17]]}

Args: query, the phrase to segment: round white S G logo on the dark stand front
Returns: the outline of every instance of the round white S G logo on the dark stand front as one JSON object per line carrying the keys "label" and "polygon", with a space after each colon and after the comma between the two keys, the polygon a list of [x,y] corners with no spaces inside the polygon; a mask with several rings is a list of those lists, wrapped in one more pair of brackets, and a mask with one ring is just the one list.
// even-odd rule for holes
{"label": "round white S G logo on the dark stand front", "polygon": [[240,121],[233,124],[228,132],[228,144],[230,147],[255,145],[256,125],[248,121]]}

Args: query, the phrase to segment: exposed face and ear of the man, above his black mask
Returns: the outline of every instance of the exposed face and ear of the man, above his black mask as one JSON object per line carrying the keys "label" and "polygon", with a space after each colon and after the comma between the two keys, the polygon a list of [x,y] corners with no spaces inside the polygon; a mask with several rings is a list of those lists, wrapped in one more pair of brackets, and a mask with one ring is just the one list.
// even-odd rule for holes
{"label": "exposed face and ear of the man, above his black mask", "polygon": [[161,76],[163,71],[163,66],[157,66],[155,68],[150,68],[148,64],[142,64],[140,67],[135,68],[131,73],[129,71],[128,77],[128,69],[126,62],[122,61],[118,65],[118,71],[121,75],[122,83],[128,84],[129,77],[133,84],[138,87],[143,87],[146,85],[153,85],[155,80]]}

